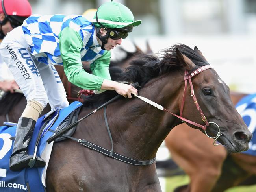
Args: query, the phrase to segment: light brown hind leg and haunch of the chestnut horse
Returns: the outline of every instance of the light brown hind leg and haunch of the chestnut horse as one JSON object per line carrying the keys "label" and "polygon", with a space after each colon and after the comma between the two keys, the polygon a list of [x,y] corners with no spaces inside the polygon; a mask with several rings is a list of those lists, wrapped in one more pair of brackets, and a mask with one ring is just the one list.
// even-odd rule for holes
{"label": "light brown hind leg and haunch of the chestnut horse", "polygon": [[213,139],[186,124],[175,127],[165,139],[165,144],[173,160],[190,177],[190,190],[187,188],[186,191],[210,192],[226,158],[223,146],[213,146]]}

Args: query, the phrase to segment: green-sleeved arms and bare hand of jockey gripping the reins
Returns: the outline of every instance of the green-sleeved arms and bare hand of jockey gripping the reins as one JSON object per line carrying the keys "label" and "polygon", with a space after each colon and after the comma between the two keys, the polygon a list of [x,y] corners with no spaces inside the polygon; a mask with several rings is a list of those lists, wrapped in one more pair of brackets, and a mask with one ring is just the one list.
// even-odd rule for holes
{"label": "green-sleeved arms and bare hand of jockey gripping the reins", "polygon": [[131,98],[131,93],[137,94],[137,89],[131,85],[111,81],[108,67],[110,53],[105,53],[92,63],[93,74],[83,70],[80,52],[83,41],[72,28],[66,27],[59,34],[59,47],[63,60],[64,72],[68,80],[78,87],[90,90],[115,90],[118,94]]}

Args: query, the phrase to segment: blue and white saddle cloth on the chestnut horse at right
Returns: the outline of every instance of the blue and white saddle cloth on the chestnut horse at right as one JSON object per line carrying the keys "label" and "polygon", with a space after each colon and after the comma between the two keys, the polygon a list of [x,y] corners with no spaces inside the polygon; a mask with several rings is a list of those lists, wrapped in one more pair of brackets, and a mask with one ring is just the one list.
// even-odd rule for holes
{"label": "blue and white saddle cloth on the chestnut horse at right", "polygon": [[242,153],[256,156],[256,94],[243,97],[237,103],[236,109],[253,134],[252,140],[249,142],[249,150]]}

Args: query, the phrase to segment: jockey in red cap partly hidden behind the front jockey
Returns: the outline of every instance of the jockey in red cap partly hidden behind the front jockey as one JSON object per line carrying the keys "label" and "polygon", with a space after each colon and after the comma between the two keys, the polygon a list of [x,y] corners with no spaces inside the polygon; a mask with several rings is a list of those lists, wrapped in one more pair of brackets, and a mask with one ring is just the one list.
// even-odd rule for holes
{"label": "jockey in red cap partly hidden behind the front jockey", "polygon": [[[0,0],[0,42],[8,32],[22,25],[31,15],[31,6],[28,0]],[[0,90],[14,92],[19,86],[13,75],[0,57]]]}

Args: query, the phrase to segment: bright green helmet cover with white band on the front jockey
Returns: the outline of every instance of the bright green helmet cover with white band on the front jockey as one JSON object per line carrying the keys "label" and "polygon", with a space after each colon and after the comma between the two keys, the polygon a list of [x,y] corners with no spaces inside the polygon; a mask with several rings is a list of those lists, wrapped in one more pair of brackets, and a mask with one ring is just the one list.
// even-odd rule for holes
{"label": "bright green helmet cover with white band on the front jockey", "polygon": [[[106,2],[96,11],[98,22],[102,26],[110,29],[119,29],[126,26],[138,26],[141,20],[134,21],[132,11],[128,7],[118,2]],[[96,27],[101,28],[96,21],[96,14],[92,20]]]}

